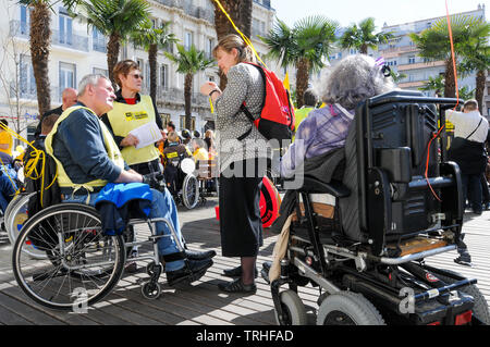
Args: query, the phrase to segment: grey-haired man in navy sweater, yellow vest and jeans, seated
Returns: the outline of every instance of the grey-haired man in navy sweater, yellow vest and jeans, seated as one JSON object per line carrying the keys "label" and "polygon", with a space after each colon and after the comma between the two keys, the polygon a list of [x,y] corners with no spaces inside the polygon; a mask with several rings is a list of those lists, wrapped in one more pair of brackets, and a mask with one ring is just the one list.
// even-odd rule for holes
{"label": "grey-haired man in navy sweater, yellow vest and jeans, seated", "polygon": [[[46,149],[58,166],[58,183],[65,202],[94,205],[107,183],[156,182],[154,174],[143,176],[130,170],[110,132],[99,116],[112,109],[114,90],[102,75],[87,75],[78,88],[78,102],[66,110],[47,136]],[[167,189],[151,189],[149,218],[166,218],[183,240],[176,207]],[[169,235],[163,223],[157,223],[157,234]],[[158,240],[160,259],[166,263],[169,285],[194,281],[211,267],[213,251],[181,251],[172,237]]]}

